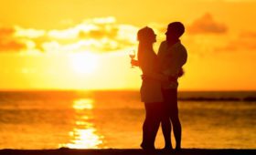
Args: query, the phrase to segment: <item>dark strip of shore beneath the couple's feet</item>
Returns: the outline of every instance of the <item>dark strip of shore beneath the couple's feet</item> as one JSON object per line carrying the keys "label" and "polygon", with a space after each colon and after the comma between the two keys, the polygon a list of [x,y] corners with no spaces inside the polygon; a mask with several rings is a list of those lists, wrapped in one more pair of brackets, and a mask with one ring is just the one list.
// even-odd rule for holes
{"label": "dark strip of shore beneath the couple's feet", "polygon": [[0,155],[255,155],[256,149],[183,149],[181,151],[163,151],[155,150],[154,152],[140,149],[67,149],[57,150],[0,150]]}

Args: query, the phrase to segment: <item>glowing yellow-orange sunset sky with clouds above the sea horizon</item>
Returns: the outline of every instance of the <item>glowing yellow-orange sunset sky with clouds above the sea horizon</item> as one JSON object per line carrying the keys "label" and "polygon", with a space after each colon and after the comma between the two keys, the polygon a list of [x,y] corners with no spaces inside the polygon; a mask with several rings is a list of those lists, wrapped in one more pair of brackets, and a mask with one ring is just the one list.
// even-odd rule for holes
{"label": "glowing yellow-orange sunset sky with clouds above the sea horizon", "polygon": [[256,89],[256,0],[8,0],[0,5],[0,89],[139,89],[136,32],[185,24],[181,90]]}

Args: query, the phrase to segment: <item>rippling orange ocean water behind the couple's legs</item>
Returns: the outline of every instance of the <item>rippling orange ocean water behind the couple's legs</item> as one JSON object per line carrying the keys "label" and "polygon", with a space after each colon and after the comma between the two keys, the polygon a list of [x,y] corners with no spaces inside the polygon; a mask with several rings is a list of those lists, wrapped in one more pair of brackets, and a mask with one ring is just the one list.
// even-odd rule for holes
{"label": "rippling orange ocean water behind the couple's legs", "polygon": [[[256,149],[255,98],[179,92],[182,147]],[[0,92],[0,149],[138,149],[143,121],[138,91]],[[155,146],[164,147],[161,129]]]}

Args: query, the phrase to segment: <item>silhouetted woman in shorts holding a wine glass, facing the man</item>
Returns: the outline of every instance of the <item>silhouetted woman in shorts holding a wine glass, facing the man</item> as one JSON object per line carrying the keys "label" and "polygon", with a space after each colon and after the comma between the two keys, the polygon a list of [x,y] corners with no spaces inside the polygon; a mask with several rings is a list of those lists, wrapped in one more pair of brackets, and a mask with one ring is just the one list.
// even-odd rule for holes
{"label": "silhouetted woman in shorts holding a wine glass, facing the man", "polygon": [[139,41],[138,46],[138,63],[147,77],[143,80],[141,86],[141,100],[144,102],[145,119],[143,125],[143,141],[141,147],[144,150],[155,150],[155,136],[160,122],[165,124],[163,129],[165,137],[165,149],[171,149],[170,120],[164,117],[163,95],[161,91],[161,82],[168,82],[168,77],[160,74],[157,62],[157,56],[153,49],[155,43],[155,33],[152,28],[144,27],[137,33]]}

